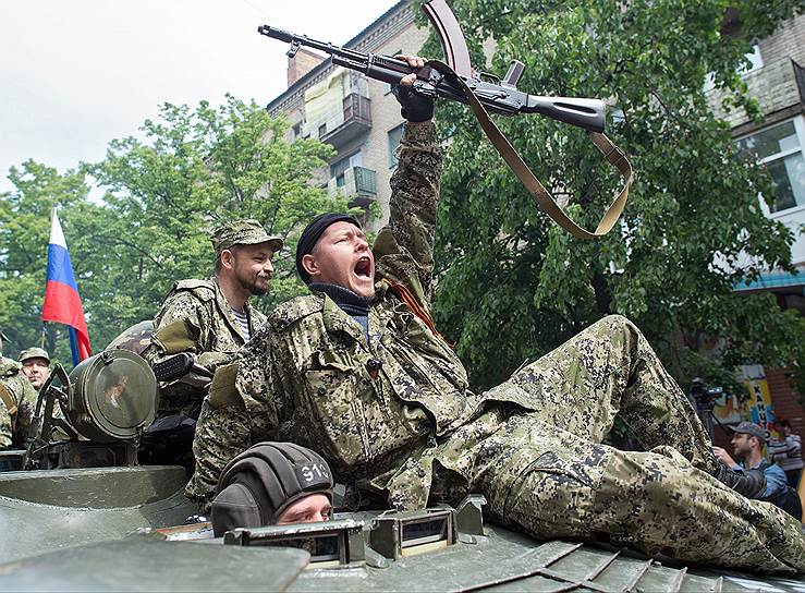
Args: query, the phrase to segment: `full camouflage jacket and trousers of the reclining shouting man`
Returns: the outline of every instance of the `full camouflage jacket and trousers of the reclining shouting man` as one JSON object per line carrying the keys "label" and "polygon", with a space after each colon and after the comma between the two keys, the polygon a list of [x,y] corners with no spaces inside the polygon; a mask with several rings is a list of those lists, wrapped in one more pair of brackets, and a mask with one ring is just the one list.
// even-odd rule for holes
{"label": "full camouflage jacket and trousers of the reclining shouting man", "polygon": [[[278,307],[227,367],[234,386],[221,380],[204,402],[187,495],[208,505],[231,458],[259,440],[291,440],[322,455],[338,481],[397,508],[480,492],[493,517],[537,537],[805,570],[796,521],[706,473],[716,461],[698,417],[627,319],[598,322],[485,394],[468,389],[454,352],[382,282],[408,287],[428,308],[434,137],[429,122],[405,126],[389,227],[374,247],[369,340],[324,294]],[[600,444],[615,415],[648,452]]]}

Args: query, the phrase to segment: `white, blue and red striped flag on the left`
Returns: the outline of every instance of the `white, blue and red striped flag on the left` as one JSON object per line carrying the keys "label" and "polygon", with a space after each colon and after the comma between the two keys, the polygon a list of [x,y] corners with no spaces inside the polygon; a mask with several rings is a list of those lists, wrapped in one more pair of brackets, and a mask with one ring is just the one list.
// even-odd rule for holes
{"label": "white, blue and red striped flag on the left", "polygon": [[53,208],[48,243],[48,283],[45,288],[45,304],[41,307],[42,322],[56,322],[70,326],[70,348],[73,364],[89,358],[89,334],[84,320],[84,310],[75,283],[73,264],[64,241],[59,217]]}

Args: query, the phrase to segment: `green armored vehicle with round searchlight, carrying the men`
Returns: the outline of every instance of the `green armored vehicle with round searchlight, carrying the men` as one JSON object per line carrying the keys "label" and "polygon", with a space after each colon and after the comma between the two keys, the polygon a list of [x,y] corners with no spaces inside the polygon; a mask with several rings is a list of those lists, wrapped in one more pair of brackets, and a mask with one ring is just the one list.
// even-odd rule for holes
{"label": "green armored vehicle with round searchlight, carrying the men", "polygon": [[57,367],[40,394],[28,447],[0,453],[17,468],[0,472],[2,591],[805,591],[795,578],[538,542],[485,523],[481,496],[216,538],[183,495],[183,468],[137,464],[158,397],[143,359],[108,350],[69,375]]}

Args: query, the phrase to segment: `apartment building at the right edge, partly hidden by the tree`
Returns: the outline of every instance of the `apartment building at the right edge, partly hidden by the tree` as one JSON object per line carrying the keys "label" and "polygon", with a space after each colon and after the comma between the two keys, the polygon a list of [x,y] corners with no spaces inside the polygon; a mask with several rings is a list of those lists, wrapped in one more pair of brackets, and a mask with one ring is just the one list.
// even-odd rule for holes
{"label": "apartment building at the right edge, partly hidden by the tree", "polygon": [[[771,36],[760,39],[748,58],[751,68],[743,76],[764,119],[754,122],[743,110],[720,114],[730,122],[739,146],[755,155],[771,174],[771,205],[765,199],[760,205],[767,217],[779,220],[794,233],[791,256],[800,274],[769,269],[757,280],[736,286],[735,291],[768,291],[774,294],[779,306],[805,314],[805,15],[786,21]],[[716,92],[711,100],[718,112]],[[743,374],[749,401],[743,406],[736,400],[728,401],[716,409],[717,416],[724,422],[753,420],[761,424],[786,417],[795,433],[805,435],[802,395],[793,390],[786,368],[747,365]]]}

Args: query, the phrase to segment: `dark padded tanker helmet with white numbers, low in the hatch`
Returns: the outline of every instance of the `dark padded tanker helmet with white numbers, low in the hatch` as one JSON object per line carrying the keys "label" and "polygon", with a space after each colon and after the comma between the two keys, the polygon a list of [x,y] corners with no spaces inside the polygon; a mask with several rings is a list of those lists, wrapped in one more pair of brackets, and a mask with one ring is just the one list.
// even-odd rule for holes
{"label": "dark padded tanker helmet with white numbers, low in the hatch", "polygon": [[271,525],[293,503],[324,494],[332,503],[332,473],[318,453],[293,443],[260,443],[230,461],[212,500],[212,532]]}

